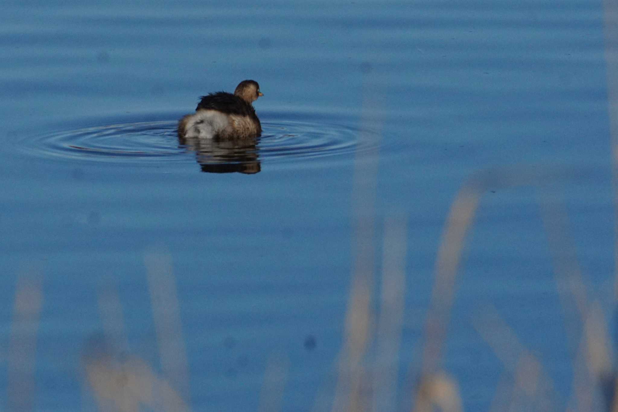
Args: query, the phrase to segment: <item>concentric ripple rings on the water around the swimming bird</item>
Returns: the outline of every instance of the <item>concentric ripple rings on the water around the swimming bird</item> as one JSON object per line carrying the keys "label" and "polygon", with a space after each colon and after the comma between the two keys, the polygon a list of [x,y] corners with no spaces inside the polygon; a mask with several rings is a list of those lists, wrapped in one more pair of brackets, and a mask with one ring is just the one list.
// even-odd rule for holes
{"label": "concentric ripple rings on the water around the swimming bird", "polygon": [[[375,133],[363,132],[348,119],[264,119],[262,136],[253,142],[179,141],[177,120],[131,122],[62,130],[28,136],[18,149],[33,156],[60,161],[97,161],[158,166],[166,162],[204,164],[268,164],[281,161],[351,158],[358,151],[378,149]],[[363,138],[363,136],[365,138]],[[369,136],[370,138],[366,138]],[[187,156],[192,154],[192,156]]]}

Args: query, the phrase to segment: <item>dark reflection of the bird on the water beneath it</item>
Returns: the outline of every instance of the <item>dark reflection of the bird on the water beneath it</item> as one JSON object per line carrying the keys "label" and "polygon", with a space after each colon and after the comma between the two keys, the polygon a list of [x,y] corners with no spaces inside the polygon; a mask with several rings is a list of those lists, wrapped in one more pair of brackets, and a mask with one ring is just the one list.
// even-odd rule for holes
{"label": "dark reflection of the bird on the water beneath it", "polygon": [[261,170],[258,138],[179,137],[178,141],[187,150],[195,152],[202,172],[254,174]]}

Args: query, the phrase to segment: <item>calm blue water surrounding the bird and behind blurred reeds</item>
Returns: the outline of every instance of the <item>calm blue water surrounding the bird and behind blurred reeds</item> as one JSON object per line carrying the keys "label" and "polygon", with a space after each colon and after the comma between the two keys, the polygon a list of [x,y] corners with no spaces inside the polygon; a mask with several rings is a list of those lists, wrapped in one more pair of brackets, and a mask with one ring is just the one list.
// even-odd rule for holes
{"label": "calm blue water surrounding the bird and behind blurred reeds", "polygon": [[[465,410],[489,409],[509,370],[473,327],[491,304],[564,406],[568,342],[580,336],[565,327],[574,314],[561,306],[540,202],[564,208],[586,285],[610,313],[599,2],[9,1],[1,15],[0,398],[15,379],[18,281],[35,276],[33,410],[96,410],[83,372],[93,353],[141,359],[192,410],[218,411],[258,410],[274,353],[289,365],[281,410],[330,410],[358,213],[373,228],[362,240],[376,256],[376,313],[384,221],[407,222],[391,406],[409,410],[449,208],[471,176],[510,167],[538,179],[489,179],[441,367]],[[179,142],[176,122],[199,96],[245,78],[265,95],[255,144]],[[184,389],[161,359],[152,254],[171,261]],[[117,336],[105,291],[121,303]]]}

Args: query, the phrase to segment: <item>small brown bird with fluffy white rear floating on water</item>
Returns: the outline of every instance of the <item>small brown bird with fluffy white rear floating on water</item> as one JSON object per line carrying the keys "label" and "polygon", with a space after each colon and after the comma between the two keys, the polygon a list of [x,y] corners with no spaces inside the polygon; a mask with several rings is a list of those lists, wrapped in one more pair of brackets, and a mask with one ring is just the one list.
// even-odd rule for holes
{"label": "small brown bird with fluffy white rear floating on water", "polygon": [[178,137],[240,140],[260,137],[262,127],[253,102],[264,96],[255,80],[243,80],[234,94],[218,91],[201,96],[195,113],[178,122]]}

